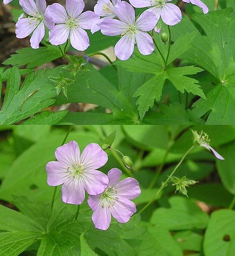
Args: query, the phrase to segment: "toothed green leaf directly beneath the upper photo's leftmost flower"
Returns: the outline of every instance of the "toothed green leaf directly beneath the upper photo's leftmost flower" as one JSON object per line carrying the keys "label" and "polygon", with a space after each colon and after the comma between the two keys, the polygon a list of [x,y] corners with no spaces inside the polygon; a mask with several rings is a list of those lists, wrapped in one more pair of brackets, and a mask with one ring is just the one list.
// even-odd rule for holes
{"label": "toothed green leaf directly beneath the upper photo's leftmost flower", "polygon": [[27,68],[41,66],[44,63],[56,60],[62,56],[60,49],[55,45],[42,46],[39,49],[29,47],[16,51],[9,59],[3,62],[4,65],[27,65]]}

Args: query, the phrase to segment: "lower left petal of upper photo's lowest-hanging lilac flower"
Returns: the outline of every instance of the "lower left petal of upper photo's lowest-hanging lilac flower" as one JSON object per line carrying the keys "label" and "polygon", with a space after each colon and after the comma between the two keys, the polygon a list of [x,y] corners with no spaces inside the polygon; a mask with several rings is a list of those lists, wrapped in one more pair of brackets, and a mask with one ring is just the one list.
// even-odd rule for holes
{"label": "lower left petal of upper photo's lowest-hanging lilac flower", "polygon": [[122,61],[129,59],[134,52],[135,36],[126,33],[114,46],[115,55]]}

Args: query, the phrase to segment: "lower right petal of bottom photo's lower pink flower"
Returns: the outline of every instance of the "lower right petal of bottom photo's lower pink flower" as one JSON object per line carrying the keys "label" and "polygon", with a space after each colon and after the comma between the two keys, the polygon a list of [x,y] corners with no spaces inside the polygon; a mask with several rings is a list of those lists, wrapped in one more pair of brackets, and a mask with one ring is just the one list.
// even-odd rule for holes
{"label": "lower right petal of bottom photo's lower pink flower", "polygon": [[136,213],[136,206],[128,199],[120,198],[115,201],[114,206],[110,207],[110,212],[118,222],[126,223]]}

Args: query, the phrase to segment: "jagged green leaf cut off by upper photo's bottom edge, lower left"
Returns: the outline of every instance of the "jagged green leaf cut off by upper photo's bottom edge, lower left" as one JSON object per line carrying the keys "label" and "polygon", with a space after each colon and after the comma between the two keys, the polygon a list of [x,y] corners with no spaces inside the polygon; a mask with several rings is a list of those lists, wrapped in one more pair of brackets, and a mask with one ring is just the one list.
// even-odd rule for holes
{"label": "jagged green leaf cut off by upper photo's bottom edge, lower left", "polygon": [[22,124],[57,124],[66,116],[67,113],[68,110],[58,112],[44,111],[40,114],[34,115],[34,117],[28,119]]}

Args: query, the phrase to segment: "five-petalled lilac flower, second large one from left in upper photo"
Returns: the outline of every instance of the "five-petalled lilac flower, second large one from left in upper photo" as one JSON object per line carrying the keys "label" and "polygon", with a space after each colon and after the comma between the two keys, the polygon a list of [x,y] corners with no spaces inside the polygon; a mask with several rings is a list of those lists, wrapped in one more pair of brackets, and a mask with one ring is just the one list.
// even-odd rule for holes
{"label": "five-petalled lilac flower, second large one from left in upper photo", "polygon": [[55,3],[46,10],[46,15],[52,17],[55,24],[49,32],[49,41],[51,44],[60,45],[69,38],[73,48],[84,51],[90,45],[84,29],[90,29],[99,16],[93,11],[81,13],[85,7],[83,0],[67,0],[65,5],[66,9]]}

